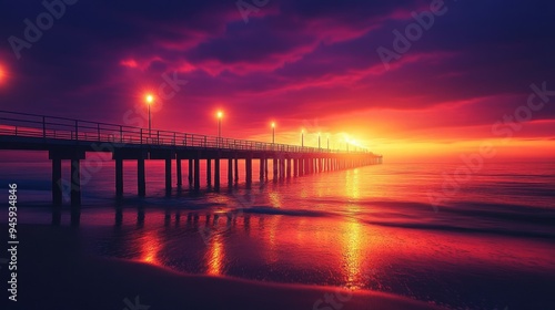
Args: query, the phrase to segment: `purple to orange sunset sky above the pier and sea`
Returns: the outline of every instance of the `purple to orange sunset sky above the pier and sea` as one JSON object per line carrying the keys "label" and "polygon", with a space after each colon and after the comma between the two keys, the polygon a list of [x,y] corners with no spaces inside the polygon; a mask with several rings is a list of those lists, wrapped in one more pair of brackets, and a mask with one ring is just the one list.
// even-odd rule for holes
{"label": "purple to orange sunset sky above the pier and sea", "polygon": [[[553,1],[2,0],[4,111],[346,148],[555,154]],[[553,90],[553,91],[551,91]],[[351,146],[354,147],[354,146]]]}

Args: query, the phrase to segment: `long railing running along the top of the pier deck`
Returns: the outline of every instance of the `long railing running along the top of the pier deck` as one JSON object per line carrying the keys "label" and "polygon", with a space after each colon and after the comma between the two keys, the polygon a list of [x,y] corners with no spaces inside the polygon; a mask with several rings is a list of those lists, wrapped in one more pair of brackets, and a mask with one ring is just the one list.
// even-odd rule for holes
{"label": "long railing running along the top of the pier deck", "polygon": [[[39,137],[91,143],[185,146],[241,151],[275,151],[295,153],[347,153],[339,149],[302,147],[182,132],[161,131],[65,117],[0,111],[0,135]],[[350,153],[369,153],[355,151]]]}

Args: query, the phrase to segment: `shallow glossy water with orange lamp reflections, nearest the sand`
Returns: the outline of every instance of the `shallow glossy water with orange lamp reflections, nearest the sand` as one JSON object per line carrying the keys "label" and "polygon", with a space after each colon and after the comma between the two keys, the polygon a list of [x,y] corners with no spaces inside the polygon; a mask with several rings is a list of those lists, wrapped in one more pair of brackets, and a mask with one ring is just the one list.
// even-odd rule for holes
{"label": "shallow glossy water with orange lamp reflections, nearest the sand", "polygon": [[[553,247],[534,239],[375,227],[336,216],[228,217],[172,209],[168,220],[168,210],[151,209],[141,221],[130,207],[122,216],[114,230],[113,224],[107,225],[114,223],[113,210],[83,210],[81,228],[92,234],[82,241],[92,255],[190,273],[376,289],[450,301],[450,291],[457,291],[465,273],[473,275],[475,285],[488,281],[507,289],[514,286],[507,281],[507,270],[536,276],[555,270]],[[206,242],[200,234],[204,228],[211,231]],[[467,285],[458,289],[466,290]],[[466,302],[457,298],[454,302]]]}

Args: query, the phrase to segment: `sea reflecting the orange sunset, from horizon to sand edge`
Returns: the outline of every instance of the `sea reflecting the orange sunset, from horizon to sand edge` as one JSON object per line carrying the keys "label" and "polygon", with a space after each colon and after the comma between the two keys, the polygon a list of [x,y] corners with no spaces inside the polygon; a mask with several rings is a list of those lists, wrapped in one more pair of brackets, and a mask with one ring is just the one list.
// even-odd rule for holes
{"label": "sea reflecting the orange sunset, from horizon to sand edge", "polygon": [[[103,163],[83,176],[75,234],[90,256],[188,273],[371,289],[454,309],[555,309],[555,164],[486,164],[455,188],[460,165],[384,164],[167,196],[154,162],[148,198],[138,198],[129,162],[115,199],[114,168]],[[2,200],[18,184],[19,221],[52,225],[49,163],[0,170]],[[430,193],[445,199],[434,207]],[[68,206],[60,225],[70,226]]]}

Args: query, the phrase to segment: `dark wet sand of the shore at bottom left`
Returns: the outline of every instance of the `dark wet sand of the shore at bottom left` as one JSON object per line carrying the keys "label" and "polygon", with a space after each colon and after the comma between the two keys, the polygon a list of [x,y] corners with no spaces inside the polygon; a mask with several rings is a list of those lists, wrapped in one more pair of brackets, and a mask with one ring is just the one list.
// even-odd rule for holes
{"label": "dark wet sand of the shore at bottom left", "polygon": [[[8,309],[147,309],[139,304],[151,310],[438,309],[380,292],[351,296],[339,288],[191,276],[137,261],[91,257],[80,245],[78,229],[20,225],[19,301],[8,303]],[[6,268],[0,271],[2,278],[8,276]],[[333,301],[326,303],[326,296]]]}

